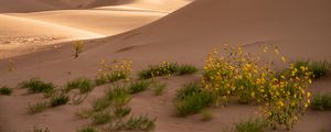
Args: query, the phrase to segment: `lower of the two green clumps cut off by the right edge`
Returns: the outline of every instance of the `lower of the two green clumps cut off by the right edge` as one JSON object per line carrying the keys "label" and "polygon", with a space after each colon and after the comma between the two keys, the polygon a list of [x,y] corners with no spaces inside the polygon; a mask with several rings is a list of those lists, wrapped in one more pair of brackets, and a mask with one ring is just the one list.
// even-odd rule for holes
{"label": "lower of the two green clumps cut off by the right edge", "polygon": [[331,95],[316,95],[310,107],[314,110],[331,110]]}

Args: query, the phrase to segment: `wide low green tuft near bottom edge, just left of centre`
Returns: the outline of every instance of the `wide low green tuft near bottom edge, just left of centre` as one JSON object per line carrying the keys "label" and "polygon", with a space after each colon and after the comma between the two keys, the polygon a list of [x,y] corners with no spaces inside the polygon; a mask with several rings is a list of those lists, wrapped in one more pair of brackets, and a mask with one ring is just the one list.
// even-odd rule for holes
{"label": "wide low green tuft near bottom edge, just left of centre", "polygon": [[147,116],[130,118],[126,122],[125,129],[134,131],[151,131],[156,128],[154,121],[156,119],[150,119]]}

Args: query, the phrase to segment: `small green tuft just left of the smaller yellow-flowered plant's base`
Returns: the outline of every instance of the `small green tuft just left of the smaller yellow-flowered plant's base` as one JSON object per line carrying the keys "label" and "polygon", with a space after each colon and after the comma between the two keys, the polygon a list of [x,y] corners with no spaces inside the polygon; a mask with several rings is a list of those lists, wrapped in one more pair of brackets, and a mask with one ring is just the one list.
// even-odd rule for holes
{"label": "small green tuft just left of the smaller yellow-flowered plant's base", "polygon": [[65,91],[70,92],[72,89],[79,89],[81,94],[90,92],[93,90],[93,85],[88,78],[78,78],[68,81],[65,87]]}

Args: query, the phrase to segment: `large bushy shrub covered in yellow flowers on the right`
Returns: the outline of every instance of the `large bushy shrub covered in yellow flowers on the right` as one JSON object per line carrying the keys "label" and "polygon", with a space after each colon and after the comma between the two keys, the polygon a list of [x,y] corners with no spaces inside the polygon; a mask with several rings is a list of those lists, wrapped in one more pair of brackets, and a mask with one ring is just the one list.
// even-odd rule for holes
{"label": "large bushy shrub covered in yellow flowers on the right", "polygon": [[[267,53],[269,47],[265,47]],[[277,47],[274,54],[279,55]],[[286,63],[286,57],[281,57]],[[273,63],[245,53],[241,46],[226,47],[224,54],[214,50],[203,67],[202,85],[217,98],[217,105],[227,105],[231,98],[241,103],[263,103],[271,127],[291,128],[310,103],[311,72],[307,66],[276,73]]]}

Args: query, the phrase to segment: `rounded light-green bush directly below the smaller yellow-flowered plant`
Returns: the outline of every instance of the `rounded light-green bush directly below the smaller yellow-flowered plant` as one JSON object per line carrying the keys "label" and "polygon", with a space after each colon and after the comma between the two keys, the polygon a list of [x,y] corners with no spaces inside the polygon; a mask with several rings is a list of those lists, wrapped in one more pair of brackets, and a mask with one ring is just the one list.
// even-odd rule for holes
{"label": "rounded light-green bush directly below the smaller yellow-flowered plant", "polygon": [[116,107],[127,105],[131,100],[131,96],[126,87],[115,86],[106,92],[106,98],[111,100],[111,103]]}

